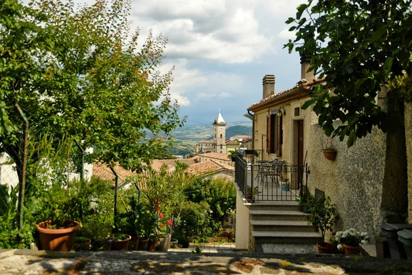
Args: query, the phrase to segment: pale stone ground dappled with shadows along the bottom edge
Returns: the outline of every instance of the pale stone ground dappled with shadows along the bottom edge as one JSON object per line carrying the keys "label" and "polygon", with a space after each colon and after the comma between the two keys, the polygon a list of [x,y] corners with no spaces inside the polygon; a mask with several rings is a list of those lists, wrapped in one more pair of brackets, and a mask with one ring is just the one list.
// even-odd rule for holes
{"label": "pale stone ground dappled with shadows along the bottom edge", "polygon": [[0,250],[0,274],[411,274],[412,261],[365,256],[256,254],[233,245],[168,252]]}

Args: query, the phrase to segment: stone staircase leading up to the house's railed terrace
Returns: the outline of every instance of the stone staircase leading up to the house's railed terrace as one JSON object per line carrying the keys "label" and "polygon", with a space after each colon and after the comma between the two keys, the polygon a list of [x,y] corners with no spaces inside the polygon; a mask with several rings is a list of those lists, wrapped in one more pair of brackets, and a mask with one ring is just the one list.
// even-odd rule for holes
{"label": "stone staircase leading up to the house's railed terrace", "polygon": [[312,252],[321,241],[296,201],[255,201],[249,205],[249,214],[257,252]]}

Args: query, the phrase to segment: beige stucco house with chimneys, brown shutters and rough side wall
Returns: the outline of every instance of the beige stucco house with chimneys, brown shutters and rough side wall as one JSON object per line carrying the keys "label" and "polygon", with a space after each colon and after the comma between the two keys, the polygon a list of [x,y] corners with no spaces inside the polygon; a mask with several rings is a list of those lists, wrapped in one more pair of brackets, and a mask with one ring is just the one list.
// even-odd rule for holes
{"label": "beige stucco house with chimneys, brown shutters and rough side wall", "polygon": [[[275,76],[264,76],[262,100],[247,109],[253,115],[253,148],[264,152],[262,160],[280,158],[290,164],[307,163],[310,192],[321,190],[336,204],[341,219],[335,230],[356,228],[376,236],[381,223],[405,222],[408,211],[411,222],[411,103],[405,103],[404,108],[403,102],[397,104],[386,92],[379,93],[377,104],[393,117],[402,118],[394,123],[395,131],[385,134],[374,128],[350,148],[346,139],[340,142],[336,137],[332,140],[336,159],[325,159],[322,142],[330,141],[312,107],[301,109],[315,96],[314,87],[325,85],[323,79],[306,73],[309,62],[310,59],[301,58],[301,80],[285,91],[275,93]],[[339,123],[336,121],[336,125]]]}

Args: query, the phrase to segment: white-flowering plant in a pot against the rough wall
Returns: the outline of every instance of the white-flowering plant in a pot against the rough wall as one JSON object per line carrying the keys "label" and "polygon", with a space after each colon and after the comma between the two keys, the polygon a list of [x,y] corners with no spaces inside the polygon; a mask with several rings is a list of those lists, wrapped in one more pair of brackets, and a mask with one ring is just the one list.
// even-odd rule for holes
{"label": "white-flowering plant in a pot against the rough wall", "polygon": [[339,241],[339,247],[345,249],[345,254],[359,254],[359,243],[366,243],[369,239],[367,232],[358,232],[354,228],[336,232],[335,238]]}

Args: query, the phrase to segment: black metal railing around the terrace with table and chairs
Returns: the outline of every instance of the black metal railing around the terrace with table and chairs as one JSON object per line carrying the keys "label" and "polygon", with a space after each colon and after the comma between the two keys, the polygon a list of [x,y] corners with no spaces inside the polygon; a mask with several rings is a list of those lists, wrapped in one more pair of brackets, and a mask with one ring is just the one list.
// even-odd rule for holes
{"label": "black metal railing around the terrace with table and chairs", "polygon": [[236,159],[235,181],[248,202],[295,201],[308,186],[308,164],[294,165],[282,159],[261,164]]}

